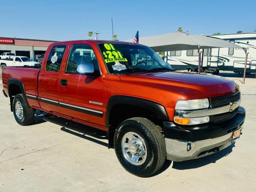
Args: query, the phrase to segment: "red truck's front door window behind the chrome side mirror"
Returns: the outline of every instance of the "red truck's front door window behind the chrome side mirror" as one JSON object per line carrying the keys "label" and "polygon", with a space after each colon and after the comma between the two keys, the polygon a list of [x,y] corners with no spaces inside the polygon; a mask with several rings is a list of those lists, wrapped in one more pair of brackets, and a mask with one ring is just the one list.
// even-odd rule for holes
{"label": "red truck's front door window behind the chrome side mirror", "polygon": [[86,65],[87,63],[93,63],[95,71],[99,70],[98,61],[91,46],[84,44],[73,45],[65,73],[79,74],[77,72],[78,65]]}

